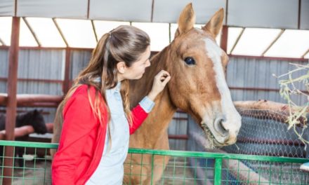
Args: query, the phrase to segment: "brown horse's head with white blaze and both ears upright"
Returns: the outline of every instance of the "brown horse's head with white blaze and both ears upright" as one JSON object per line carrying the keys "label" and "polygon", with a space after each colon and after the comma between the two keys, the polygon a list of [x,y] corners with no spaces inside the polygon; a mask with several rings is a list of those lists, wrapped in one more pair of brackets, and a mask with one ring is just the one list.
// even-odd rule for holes
{"label": "brown horse's head with white blaze and both ears upright", "polygon": [[175,39],[169,46],[167,71],[171,101],[187,111],[215,146],[234,144],[241,126],[225,81],[228,55],[215,38],[223,24],[223,9],[198,29],[188,4],[180,14]]}

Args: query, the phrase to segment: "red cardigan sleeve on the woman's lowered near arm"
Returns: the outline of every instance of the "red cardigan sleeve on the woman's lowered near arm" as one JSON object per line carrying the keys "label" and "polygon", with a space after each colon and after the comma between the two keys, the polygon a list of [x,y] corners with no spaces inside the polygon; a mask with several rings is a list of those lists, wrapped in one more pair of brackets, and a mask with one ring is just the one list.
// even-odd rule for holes
{"label": "red cardigan sleeve on the woman's lowered near arm", "polygon": [[52,181],[53,184],[70,185],[74,184],[74,173],[87,145],[88,133],[97,121],[84,95],[73,95],[67,101],[63,118],[59,147],[52,163]]}

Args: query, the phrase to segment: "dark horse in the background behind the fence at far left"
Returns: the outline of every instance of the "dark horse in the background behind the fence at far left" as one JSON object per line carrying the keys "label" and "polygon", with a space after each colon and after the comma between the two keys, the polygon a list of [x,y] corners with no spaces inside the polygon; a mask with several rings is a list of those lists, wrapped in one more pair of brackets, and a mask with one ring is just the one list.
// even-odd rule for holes
{"label": "dark horse in the background behind the fence at far left", "polygon": [[[41,111],[34,109],[33,111],[27,111],[22,114],[18,114],[16,116],[15,127],[20,128],[25,125],[32,125],[34,128],[34,132],[38,134],[45,134],[47,132],[47,128],[45,125],[44,117],[41,114]],[[6,115],[0,114],[0,130],[6,129]],[[27,141],[29,135],[24,135],[22,137],[16,137],[16,141]],[[22,158],[22,154],[25,153],[25,148],[15,147],[15,155],[18,156],[18,165],[23,167],[24,160]],[[0,147],[0,158],[4,156],[4,147]]]}

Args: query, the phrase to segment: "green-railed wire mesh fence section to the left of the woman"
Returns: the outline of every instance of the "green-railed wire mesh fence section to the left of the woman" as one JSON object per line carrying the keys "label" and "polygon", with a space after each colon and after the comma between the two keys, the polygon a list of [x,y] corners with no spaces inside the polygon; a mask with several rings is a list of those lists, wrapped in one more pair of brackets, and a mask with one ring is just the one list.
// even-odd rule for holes
{"label": "green-railed wire mesh fence section to the left of the woman", "polygon": [[49,149],[55,147],[56,144],[0,141],[0,184],[51,184]]}

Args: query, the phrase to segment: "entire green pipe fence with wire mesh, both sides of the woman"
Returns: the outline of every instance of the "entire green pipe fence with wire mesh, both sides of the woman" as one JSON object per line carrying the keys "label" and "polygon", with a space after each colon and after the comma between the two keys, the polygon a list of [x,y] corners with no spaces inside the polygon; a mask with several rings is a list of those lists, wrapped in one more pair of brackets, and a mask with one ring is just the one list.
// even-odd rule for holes
{"label": "entire green pipe fence with wire mesh, both sides of the woman", "polygon": [[[4,147],[6,146],[6,147]],[[11,179],[12,184],[51,184],[51,158],[48,157],[49,149],[56,149],[58,144],[37,142],[0,141],[0,184],[3,179]],[[4,156],[4,150],[13,147],[13,158]],[[22,156],[15,153],[22,151]],[[130,160],[135,155],[139,162]],[[145,160],[150,158],[152,160]],[[163,158],[167,165],[155,163],[156,158]],[[5,166],[4,160],[13,160],[12,166]],[[125,173],[124,178],[149,177],[151,184],[156,176],[155,169],[162,167],[164,173],[156,184],[309,184],[309,173],[299,169],[301,163],[308,162],[304,158],[284,158],[272,156],[251,156],[230,153],[206,153],[195,151],[159,151],[149,149],[129,149],[128,159],[124,168],[131,165],[139,165],[140,173]],[[22,161],[22,166],[18,161]],[[163,160],[163,161],[164,161]],[[209,161],[215,161],[213,166],[207,165]],[[129,162],[128,162],[129,161]],[[191,164],[189,165],[189,161]],[[256,167],[242,169],[242,163],[254,161]],[[150,170],[144,172],[143,167]],[[4,168],[11,170],[10,177],[4,177]],[[204,174],[204,178],[201,175]],[[233,178],[223,178],[230,176]],[[299,178],[295,180],[294,176]],[[199,178],[197,178],[199,177]],[[129,182],[129,184],[131,184]]]}

